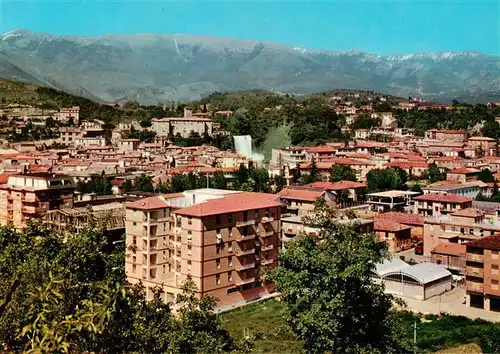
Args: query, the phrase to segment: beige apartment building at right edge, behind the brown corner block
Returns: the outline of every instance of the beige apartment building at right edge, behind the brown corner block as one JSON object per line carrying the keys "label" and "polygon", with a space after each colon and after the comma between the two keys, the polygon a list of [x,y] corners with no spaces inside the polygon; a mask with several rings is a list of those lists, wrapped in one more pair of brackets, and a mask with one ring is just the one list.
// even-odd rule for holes
{"label": "beige apartment building at right edge, behind the brown corner block", "polygon": [[424,219],[424,255],[430,257],[441,243],[465,243],[500,233],[497,219],[488,219],[479,209],[467,208]]}

